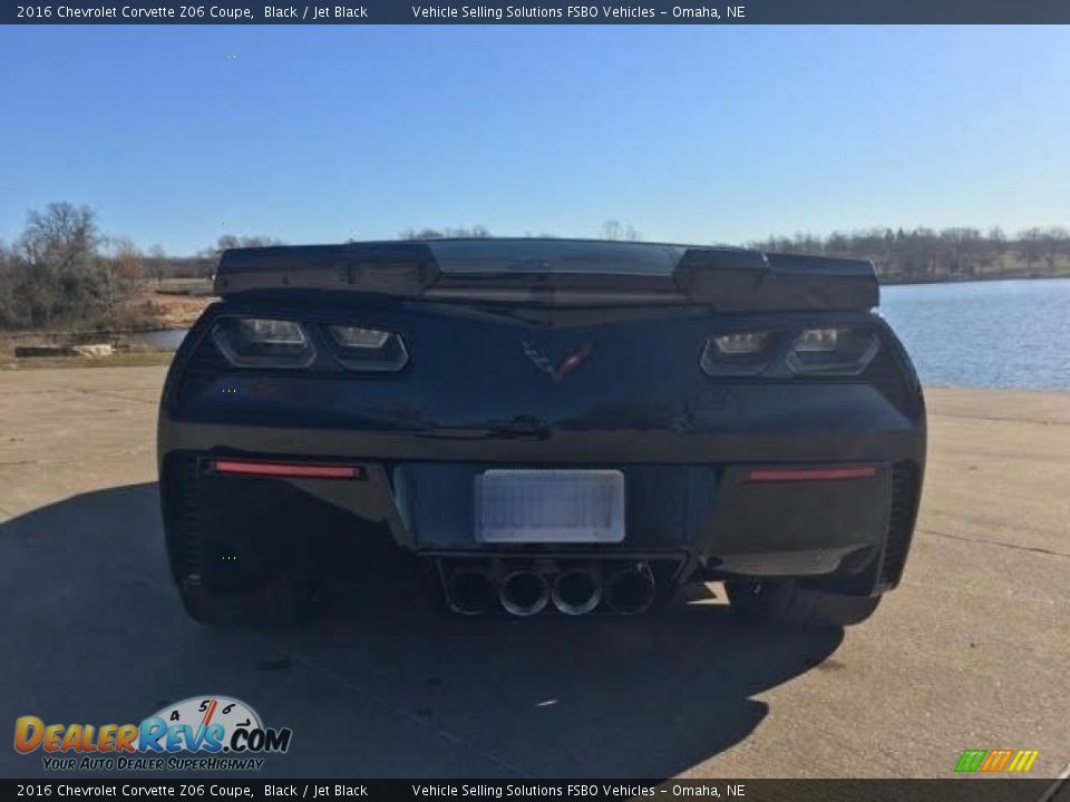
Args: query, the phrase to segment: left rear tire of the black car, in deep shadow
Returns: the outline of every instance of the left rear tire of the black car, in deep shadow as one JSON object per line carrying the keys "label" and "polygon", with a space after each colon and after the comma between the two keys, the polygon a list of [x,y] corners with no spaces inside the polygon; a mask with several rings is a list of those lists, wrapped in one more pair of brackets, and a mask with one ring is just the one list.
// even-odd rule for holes
{"label": "left rear tire of the black car, in deep shadow", "polygon": [[265,587],[214,590],[183,581],[182,606],[200,624],[213,627],[282,627],[304,624],[322,609],[309,585],[280,581]]}

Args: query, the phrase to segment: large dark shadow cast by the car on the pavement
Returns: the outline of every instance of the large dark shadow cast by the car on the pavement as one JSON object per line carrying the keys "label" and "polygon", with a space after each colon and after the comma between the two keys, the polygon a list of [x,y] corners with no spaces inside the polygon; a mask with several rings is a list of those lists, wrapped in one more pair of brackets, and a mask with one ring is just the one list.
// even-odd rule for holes
{"label": "large dark shadow cast by the car on the pavement", "polygon": [[[745,741],[772,714],[757,697],[835,667],[843,639],[749,629],[701,594],[638,619],[457,617],[400,555],[353,566],[311,626],[212,630],[172,587],[155,483],[0,524],[0,593],[18,656],[0,722],[136,723],[231,695],[293,728],[275,776],[673,775]],[[0,774],[39,774],[40,757],[0,750]]]}

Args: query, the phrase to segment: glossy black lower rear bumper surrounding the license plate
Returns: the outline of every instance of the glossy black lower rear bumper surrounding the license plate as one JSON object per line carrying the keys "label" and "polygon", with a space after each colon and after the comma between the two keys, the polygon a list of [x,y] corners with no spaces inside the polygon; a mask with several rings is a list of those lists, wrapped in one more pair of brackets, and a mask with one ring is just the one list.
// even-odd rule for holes
{"label": "glossy black lower rear bumper surrounding the license plate", "polygon": [[492,463],[340,460],[357,468],[354,478],[310,479],[220,473],[215,458],[173,451],[164,461],[178,580],[296,568],[344,576],[369,555],[400,547],[431,558],[664,559],[679,566],[678,581],[795,577],[874,594],[898,581],[921,480],[913,460],[866,462],[872,476],[802,481],[750,480],[768,462],[600,464],[625,476],[622,542],[502,546],[475,536],[475,481]]}

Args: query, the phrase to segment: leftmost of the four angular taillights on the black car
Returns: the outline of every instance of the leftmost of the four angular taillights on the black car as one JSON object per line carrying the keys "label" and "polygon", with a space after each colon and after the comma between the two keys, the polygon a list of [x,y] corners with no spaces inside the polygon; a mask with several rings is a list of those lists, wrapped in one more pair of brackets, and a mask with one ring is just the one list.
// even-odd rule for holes
{"label": "leftmost of the four angular taillights on the black car", "polygon": [[212,329],[212,339],[239,368],[307,368],[315,360],[315,346],[296,321],[225,317]]}

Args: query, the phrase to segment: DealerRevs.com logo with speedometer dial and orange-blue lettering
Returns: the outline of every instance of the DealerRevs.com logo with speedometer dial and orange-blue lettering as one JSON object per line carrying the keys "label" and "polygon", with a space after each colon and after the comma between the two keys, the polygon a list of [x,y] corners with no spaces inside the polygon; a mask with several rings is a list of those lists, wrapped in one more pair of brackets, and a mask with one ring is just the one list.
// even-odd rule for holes
{"label": "DealerRevs.com logo with speedometer dial and orange-blue lettering", "polygon": [[45,769],[162,771],[259,770],[270,753],[285,753],[293,731],[265,727],[256,711],[227,696],[192,696],[140,724],[14,722],[14,750],[42,753]]}

